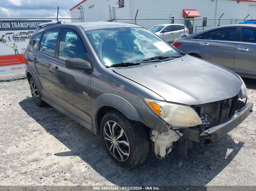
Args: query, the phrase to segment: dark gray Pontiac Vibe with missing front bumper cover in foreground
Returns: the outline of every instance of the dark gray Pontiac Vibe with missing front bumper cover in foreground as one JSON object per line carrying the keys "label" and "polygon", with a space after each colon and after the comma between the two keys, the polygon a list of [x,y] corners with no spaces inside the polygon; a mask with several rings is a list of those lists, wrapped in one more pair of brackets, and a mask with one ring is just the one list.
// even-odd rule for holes
{"label": "dark gray Pontiac Vibe with missing front bumper cover in foreground", "polygon": [[[38,26],[25,51],[37,106],[95,134],[122,167],[216,142],[252,112],[234,72],[185,55],[135,24]],[[60,122],[61,123],[61,122]]]}

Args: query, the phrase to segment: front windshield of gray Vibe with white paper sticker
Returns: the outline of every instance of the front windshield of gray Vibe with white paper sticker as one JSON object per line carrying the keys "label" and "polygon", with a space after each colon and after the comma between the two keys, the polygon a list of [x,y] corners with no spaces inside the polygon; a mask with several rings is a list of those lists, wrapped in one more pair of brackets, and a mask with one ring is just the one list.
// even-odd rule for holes
{"label": "front windshield of gray Vibe with white paper sticker", "polygon": [[144,28],[110,28],[85,31],[95,53],[105,66],[140,62],[155,56],[180,54]]}

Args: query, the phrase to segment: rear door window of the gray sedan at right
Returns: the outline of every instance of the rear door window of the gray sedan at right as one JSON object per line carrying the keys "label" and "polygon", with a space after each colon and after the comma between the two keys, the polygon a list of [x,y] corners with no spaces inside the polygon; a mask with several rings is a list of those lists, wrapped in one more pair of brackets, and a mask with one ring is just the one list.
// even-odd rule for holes
{"label": "rear door window of the gray sedan at right", "polygon": [[235,41],[236,28],[221,28],[207,33],[208,40]]}

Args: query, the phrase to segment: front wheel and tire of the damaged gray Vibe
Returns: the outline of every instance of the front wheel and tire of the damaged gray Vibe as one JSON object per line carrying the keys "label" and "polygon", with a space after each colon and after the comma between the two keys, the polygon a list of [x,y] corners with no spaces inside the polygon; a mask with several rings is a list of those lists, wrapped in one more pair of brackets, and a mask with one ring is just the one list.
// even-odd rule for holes
{"label": "front wheel and tire of the damaged gray Vibe", "polygon": [[108,155],[119,166],[135,167],[147,158],[149,141],[145,127],[118,110],[103,116],[100,132]]}

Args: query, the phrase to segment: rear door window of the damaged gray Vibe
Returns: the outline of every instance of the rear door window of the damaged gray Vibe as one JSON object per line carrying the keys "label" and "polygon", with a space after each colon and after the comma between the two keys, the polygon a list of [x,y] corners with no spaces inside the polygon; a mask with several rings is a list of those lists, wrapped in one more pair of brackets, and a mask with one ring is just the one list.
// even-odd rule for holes
{"label": "rear door window of the damaged gray Vibe", "polygon": [[59,30],[51,30],[45,32],[41,40],[40,51],[54,56],[58,33]]}

